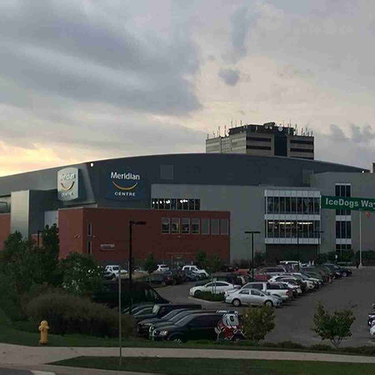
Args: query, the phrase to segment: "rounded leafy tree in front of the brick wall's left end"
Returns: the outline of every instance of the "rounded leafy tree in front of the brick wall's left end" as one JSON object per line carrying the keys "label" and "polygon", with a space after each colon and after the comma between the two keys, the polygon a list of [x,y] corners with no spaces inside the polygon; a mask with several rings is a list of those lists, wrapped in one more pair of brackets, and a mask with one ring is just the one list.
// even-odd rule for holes
{"label": "rounded leafy tree in front of the brick wall's left end", "polygon": [[103,282],[104,269],[91,255],[72,252],[58,265],[63,275],[62,287],[79,296],[92,296]]}

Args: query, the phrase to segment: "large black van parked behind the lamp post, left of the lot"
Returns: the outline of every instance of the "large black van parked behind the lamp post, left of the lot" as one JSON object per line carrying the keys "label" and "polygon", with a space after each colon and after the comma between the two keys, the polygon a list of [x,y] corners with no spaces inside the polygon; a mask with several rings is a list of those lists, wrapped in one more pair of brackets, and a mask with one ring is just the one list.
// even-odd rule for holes
{"label": "large black van parked behind the lamp post, left of the lot", "polygon": [[[145,282],[132,282],[132,303],[170,303]],[[118,306],[118,280],[104,281],[93,293],[93,302],[105,303],[110,308]],[[121,279],[121,307],[130,305],[129,279]]]}

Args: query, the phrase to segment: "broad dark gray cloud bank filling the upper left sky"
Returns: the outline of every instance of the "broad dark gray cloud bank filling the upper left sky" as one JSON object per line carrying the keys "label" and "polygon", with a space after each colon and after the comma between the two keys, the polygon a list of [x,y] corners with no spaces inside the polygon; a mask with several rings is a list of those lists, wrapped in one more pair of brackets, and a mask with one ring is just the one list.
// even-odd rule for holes
{"label": "broad dark gray cloud bank filling the upper left sky", "polygon": [[48,0],[2,10],[0,74],[21,87],[149,113],[201,107],[186,79],[198,70],[200,52],[178,25],[165,40]]}

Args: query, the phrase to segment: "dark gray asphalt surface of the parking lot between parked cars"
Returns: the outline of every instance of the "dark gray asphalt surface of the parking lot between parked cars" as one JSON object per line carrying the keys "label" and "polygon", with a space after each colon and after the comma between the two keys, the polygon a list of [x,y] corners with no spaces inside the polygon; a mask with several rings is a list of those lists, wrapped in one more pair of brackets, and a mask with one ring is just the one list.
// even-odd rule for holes
{"label": "dark gray asphalt surface of the parking lot between parked cars", "polygon": [[[208,282],[208,281],[207,281]],[[280,342],[293,341],[303,345],[321,343],[321,339],[315,336],[311,328],[314,326],[314,308],[319,301],[329,309],[343,309],[348,304],[355,304],[356,320],[352,325],[353,336],[344,341],[343,346],[374,345],[369,335],[367,326],[368,312],[371,310],[372,302],[375,302],[375,267],[364,267],[354,269],[353,276],[334,280],[332,284],[326,284],[317,291],[304,294],[296,300],[288,302],[280,309],[276,309],[276,327],[266,337],[266,341]],[[234,309],[225,303],[212,303],[198,299],[189,299],[189,289],[195,285],[194,282],[184,283],[165,288],[157,288],[158,293],[174,303],[186,303],[196,301],[203,308],[226,308]],[[236,308],[243,311],[245,307]],[[328,344],[328,342],[325,342]]]}

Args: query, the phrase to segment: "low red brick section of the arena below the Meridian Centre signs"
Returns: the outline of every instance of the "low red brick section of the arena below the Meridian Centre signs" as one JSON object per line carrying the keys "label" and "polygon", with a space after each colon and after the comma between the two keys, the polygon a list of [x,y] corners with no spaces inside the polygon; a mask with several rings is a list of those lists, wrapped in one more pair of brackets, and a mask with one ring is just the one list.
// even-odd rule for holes
{"label": "low red brick section of the arena below the Meridian Centre signs", "polygon": [[[60,258],[69,252],[88,253],[91,242],[91,254],[98,261],[109,264],[120,262],[125,265],[129,258],[129,220],[145,221],[145,225],[132,226],[132,253],[135,262],[143,261],[153,253],[157,261],[193,260],[198,251],[204,250],[210,258],[217,255],[229,263],[228,235],[202,234],[162,234],[162,217],[228,219],[228,211],[171,211],[171,210],[130,210],[116,208],[71,208],[58,213],[60,237]],[[91,223],[91,236],[88,235]],[[108,246],[114,245],[114,249]]]}

